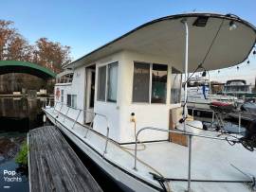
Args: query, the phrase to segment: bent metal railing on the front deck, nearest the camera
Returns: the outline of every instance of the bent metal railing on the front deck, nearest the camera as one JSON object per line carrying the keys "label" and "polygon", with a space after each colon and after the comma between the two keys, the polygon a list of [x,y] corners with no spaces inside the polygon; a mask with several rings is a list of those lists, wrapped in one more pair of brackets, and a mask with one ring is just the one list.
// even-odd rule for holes
{"label": "bent metal railing on the front deck, nearest the camera", "polygon": [[188,168],[188,191],[191,191],[191,182],[192,182],[192,136],[196,137],[202,137],[202,138],[208,138],[208,139],[214,139],[214,140],[221,140],[221,141],[233,141],[229,140],[228,138],[220,138],[220,137],[212,137],[212,136],[207,136],[203,134],[194,134],[191,132],[185,132],[185,131],[172,131],[172,130],[164,130],[164,129],[159,129],[159,128],[152,128],[152,127],[147,127],[147,128],[142,128],[139,131],[137,131],[136,134],[136,145],[135,145],[135,159],[134,159],[134,169],[137,170],[137,141],[138,141],[138,135],[142,131],[146,130],[152,130],[152,131],[166,131],[166,132],[171,132],[171,133],[178,133],[178,134],[183,134],[189,137],[189,168]]}

